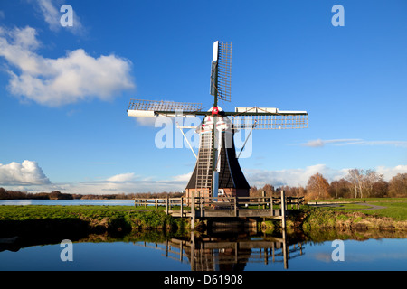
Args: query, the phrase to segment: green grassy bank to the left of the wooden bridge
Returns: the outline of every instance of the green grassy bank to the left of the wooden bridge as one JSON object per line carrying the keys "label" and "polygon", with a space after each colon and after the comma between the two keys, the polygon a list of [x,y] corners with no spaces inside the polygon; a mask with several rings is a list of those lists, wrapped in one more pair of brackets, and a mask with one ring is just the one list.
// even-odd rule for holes
{"label": "green grassy bank to the left of the wooden bridge", "polygon": [[0,238],[28,234],[128,233],[139,229],[184,230],[186,219],[164,210],[135,210],[128,206],[1,206]]}

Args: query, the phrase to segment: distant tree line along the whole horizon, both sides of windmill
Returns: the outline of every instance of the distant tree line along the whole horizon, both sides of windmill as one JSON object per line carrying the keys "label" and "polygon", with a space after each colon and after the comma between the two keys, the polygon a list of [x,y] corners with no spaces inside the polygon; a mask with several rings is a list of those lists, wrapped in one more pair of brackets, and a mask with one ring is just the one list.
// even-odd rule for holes
{"label": "distant tree line along the whole horizon, both sides of windmill", "polygon": [[[382,197],[407,197],[407,173],[398,173],[389,182],[383,179],[383,174],[374,170],[353,169],[347,172],[344,178],[328,182],[321,173],[309,177],[307,185],[303,186],[282,186],[275,188],[271,184],[265,184],[262,188],[251,186],[250,196],[259,197],[262,191],[266,196],[276,196],[279,190],[284,190],[286,196],[306,197],[307,200],[321,200],[329,198],[382,198]],[[182,192],[135,192],[120,194],[69,194],[61,191],[52,192],[27,192],[10,191],[0,188],[0,200],[131,200],[134,198],[166,198],[181,197]]]}

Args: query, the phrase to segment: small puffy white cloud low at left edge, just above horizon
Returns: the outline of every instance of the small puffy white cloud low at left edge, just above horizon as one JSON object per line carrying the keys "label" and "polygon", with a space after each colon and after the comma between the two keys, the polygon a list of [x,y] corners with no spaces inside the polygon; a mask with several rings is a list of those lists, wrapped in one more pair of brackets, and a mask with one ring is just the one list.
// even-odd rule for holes
{"label": "small puffy white cloud low at left edge, just above horizon", "polygon": [[23,163],[0,163],[1,185],[38,185],[48,184],[50,180],[45,176],[38,163],[25,160]]}

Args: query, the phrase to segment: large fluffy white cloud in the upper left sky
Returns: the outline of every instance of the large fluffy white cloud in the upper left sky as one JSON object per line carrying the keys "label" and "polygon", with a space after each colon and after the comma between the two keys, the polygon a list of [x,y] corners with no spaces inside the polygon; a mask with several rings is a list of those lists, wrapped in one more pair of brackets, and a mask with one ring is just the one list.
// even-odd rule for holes
{"label": "large fluffy white cloud in the upper left sky", "polygon": [[19,70],[7,68],[8,89],[15,96],[59,107],[90,98],[107,101],[135,88],[130,61],[114,54],[93,58],[82,49],[44,58],[34,51],[40,45],[35,36],[35,29],[28,26],[0,29],[0,56]]}

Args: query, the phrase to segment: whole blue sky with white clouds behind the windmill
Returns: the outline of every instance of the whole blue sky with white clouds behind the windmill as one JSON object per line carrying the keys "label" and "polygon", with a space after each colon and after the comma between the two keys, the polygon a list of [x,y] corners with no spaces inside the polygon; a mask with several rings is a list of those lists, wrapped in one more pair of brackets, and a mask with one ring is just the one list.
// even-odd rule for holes
{"label": "whole blue sky with white clouds behind the windmill", "polygon": [[407,172],[406,13],[404,0],[1,0],[0,186],[184,190],[195,158],[174,119],[128,117],[128,103],[212,107],[215,41],[232,42],[222,109],[308,111],[308,128],[253,131],[240,158],[251,185],[353,168],[389,181]]}

